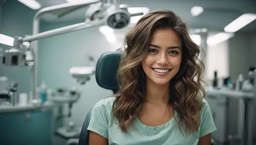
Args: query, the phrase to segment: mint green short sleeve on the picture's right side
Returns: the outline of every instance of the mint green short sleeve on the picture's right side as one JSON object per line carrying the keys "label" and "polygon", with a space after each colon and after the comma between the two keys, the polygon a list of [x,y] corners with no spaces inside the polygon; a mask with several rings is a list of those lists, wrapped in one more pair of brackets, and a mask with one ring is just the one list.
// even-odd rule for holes
{"label": "mint green short sleeve on the picture's right side", "polygon": [[200,137],[216,131],[216,126],[212,117],[211,109],[208,102],[204,99],[204,106],[201,112]]}

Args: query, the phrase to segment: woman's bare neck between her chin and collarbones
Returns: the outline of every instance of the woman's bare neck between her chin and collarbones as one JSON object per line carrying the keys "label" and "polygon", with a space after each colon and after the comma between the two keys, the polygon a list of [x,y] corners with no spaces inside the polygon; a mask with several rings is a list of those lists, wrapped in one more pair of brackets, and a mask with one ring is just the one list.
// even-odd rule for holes
{"label": "woman's bare neck between her chin and collarbones", "polygon": [[169,84],[159,85],[147,79],[145,101],[154,104],[168,104]]}

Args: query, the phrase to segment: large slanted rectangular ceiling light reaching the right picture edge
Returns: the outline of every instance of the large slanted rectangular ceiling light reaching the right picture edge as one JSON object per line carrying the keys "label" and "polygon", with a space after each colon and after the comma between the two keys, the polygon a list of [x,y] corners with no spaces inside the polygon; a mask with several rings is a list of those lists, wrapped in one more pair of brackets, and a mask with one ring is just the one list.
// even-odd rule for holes
{"label": "large slanted rectangular ceiling light reaching the right picture edge", "polygon": [[225,32],[236,32],[239,29],[243,28],[247,24],[251,23],[253,20],[256,19],[256,14],[247,13],[242,14],[240,17],[233,20],[230,24],[224,27]]}

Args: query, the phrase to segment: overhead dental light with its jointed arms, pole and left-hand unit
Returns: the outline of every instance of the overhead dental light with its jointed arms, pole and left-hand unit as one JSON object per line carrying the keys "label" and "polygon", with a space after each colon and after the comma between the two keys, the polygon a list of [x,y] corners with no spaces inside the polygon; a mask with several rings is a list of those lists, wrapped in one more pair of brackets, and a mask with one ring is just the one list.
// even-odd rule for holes
{"label": "overhead dental light with its jointed arms, pole and left-hand unit", "polygon": [[[31,69],[31,91],[33,99],[37,99],[35,88],[38,86],[38,41],[64,33],[74,32],[93,26],[107,25],[113,29],[122,29],[129,25],[131,17],[143,15],[142,12],[130,14],[128,5],[120,5],[120,0],[112,0],[107,3],[105,0],[86,0],[77,3],[64,3],[56,6],[49,6],[39,10],[33,19],[33,35],[15,37],[14,46],[6,50],[3,55],[3,64],[6,66],[30,66]],[[85,22],[77,23],[58,29],[39,33],[40,19],[44,14],[54,14],[57,17],[73,12],[77,9],[88,7],[85,12]],[[33,63],[26,61],[26,51],[22,49],[23,42],[31,43],[29,50],[32,54]],[[30,60],[31,61],[31,60]],[[29,65],[30,64],[30,65]],[[80,69],[81,70],[81,69]],[[87,71],[83,71],[87,72]],[[88,71],[89,72],[89,71]],[[74,75],[79,77],[78,75]],[[86,75],[87,76],[87,75]],[[80,79],[80,78],[79,78]]]}

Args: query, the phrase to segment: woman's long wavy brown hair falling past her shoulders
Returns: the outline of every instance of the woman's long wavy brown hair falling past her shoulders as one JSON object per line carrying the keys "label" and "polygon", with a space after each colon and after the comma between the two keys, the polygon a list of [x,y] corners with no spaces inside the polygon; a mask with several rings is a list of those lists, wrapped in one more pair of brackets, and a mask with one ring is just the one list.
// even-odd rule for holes
{"label": "woman's long wavy brown hair falling past her shoulders", "polygon": [[166,28],[174,30],[182,43],[180,70],[170,81],[169,104],[177,113],[176,121],[181,132],[198,131],[205,96],[201,85],[204,64],[198,60],[200,47],[192,41],[180,17],[169,10],[156,10],[143,16],[125,38],[125,52],[117,73],[120,91],[112,108],[113,116],[124,132],[128,132],[128,126],[140,114],[145,103],[146,75],[142,61],[148,53],[152,33]]}

